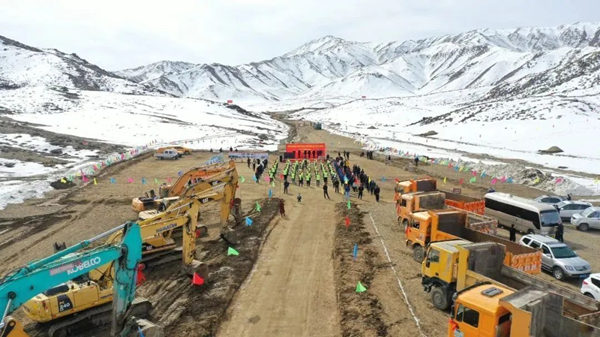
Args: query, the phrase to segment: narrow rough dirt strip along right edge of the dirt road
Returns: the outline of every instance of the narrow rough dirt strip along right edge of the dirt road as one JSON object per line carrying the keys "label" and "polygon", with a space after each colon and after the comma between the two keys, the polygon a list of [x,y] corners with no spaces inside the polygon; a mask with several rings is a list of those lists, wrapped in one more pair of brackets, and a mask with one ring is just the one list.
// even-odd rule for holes
{"label": "narrow rough dirt strip along right edge of the dirt road", "polygon": [[[387,336],[383,307],[368,290],[379,268],[379,254],[363,224],[363,213],[356,205],[348,209],[345,203],[336,205],[336,213],[340,221],[335,230],[333,255],[342,336]],[[346,217],[350,219],[348,226]],[[358,244],[356,260],[355,244]],[[359,281],[367,287],[366,292],[356,292]]]}

